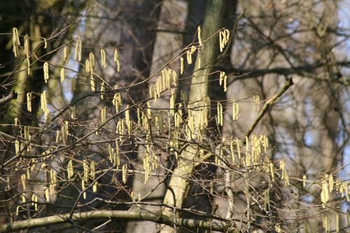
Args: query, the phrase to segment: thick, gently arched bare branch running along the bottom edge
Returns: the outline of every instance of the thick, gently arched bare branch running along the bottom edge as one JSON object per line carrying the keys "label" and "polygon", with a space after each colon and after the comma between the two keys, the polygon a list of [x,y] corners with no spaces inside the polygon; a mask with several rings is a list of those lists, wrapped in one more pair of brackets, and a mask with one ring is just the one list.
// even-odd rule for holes
{"label": "thick, gently arched bare branch running along the bottom edge", "polygon": [[[173,226],[174,218],[161,215],[161,213],[148,213],[138,211],[88,211],[81,213],[73,213],[71,220],[83,221],[90,219],[128,219],[128,220],[146,220],[153,223],[162,223]],[[13,223],[0,225],[0,232],[15,232],[34,227],[44,227],[59,223],[69,223],[69,213],[48,216],[44,218],[32,218],[28,220],[15,221]],[[200,228],[204,230],[214,230],[218,232],[232,232],[233,227],[228,223],[211,222],[204,220],[177,218],[176,225],[179,227]]]}

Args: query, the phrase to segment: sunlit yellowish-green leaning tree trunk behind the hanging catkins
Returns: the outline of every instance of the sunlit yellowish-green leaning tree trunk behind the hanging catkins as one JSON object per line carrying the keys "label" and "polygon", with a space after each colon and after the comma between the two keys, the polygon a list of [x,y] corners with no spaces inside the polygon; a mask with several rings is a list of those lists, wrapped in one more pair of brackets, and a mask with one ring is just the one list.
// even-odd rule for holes
{"label": "sunlit yellowish-green leaning tree trunk behind the hanging catkins", "polygon": [[[211,64],[216,57],[218,48],[218,36],[213,34],[221,29],[223,22],[223,12],[225,10],[225,1],[211,0],[207,3],[206,15],[202,27],[203,43],[201,53],[201,69],[197,69],[199,59],[195,64],[195,72],[193,73],[192,83],[190,87],[190,99],[188,104],[188,111],[190,109],[200,106],[202,101],[208,96],[209,87],[209,73],[211,73]],[[211,38],[209,38],[211,37]],[[206,41],[207,40],[207,41]],[[199,111],[190,111],[194,122],[199,121]],[[197,129],[198,130],[198,129]],[[203,133],[203,132],[202,132]],[[174,169],[172,178],[169,183],[169,189],[165,194],[164,203],[176,208],[182,208],[186,200],[186,195],[190,188],[189,178],[195,167],[194,159],[197,158],[197,147],[188,146],[186,150],[179,156],[178,165]],[[197,159],[200,159],[199,157]],[[172,210],[164,209],[163,213],[166,216],[172,216]],[[178,218],[179,216],[174,216]],[[176,232],[172,227],[162,226],[161,232]]]}

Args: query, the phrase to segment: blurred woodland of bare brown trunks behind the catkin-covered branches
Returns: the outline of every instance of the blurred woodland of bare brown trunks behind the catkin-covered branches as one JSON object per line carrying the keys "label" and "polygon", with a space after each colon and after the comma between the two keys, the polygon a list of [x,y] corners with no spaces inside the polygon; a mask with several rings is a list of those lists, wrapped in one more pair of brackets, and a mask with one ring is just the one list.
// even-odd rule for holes
{"label": "blurred woodland of bare brown trunks behind the catkin-covered branches", "polygon": [[[209,32],[206,29],[209,26],[204,25],[206,19],[206,25],[212,26]],[[198,26],[203,31],[202,52],[210,43],[205,39],[211,35],[216,38],[216,50],[211,52],[207,61],[203,53],[202,71],[196,69],[198,57],[195,53],[193,64],[186,64],[181,75],[179,61],[169,61],[174,57],[178,59],[179,54],[191,45],[198,45]],[[29,36],[30,73],[27,73],[24,52],[18,57],[13,54],[14,27],[20,34],[20,46],[23,46],[24,36]],[[230,31],[230,39],[220,52],[218,30],[223,28]],[[204,137],[208,139],[208,145],[215,144],[214,148],[235,137],[244,141],[259,114],[255,107],[260,106],[261,111],[290,78],[294,83],[269,106],[258,125],[253,127],[253,134],[263,134],[269,139],[264,156],[276,168],[279,161],[285,161],[292,185],[286,187],[284,181],[274,183],[269,190],[271,207],[269,211],[263,211],[264,201],[259,201],[259,198],[264,196],[267,187],[262,177],[269,176],[269,171],[247,173],[251,175],[246,181],[246,176],[242,175],[246,174],[246,167],[241,173],[231,176],[241,169],[216,166],[214,158],[210,158],[207,162],[202,161],[202,165],[187,177],[190,189],[188,197],[179,206],[181,218],[209,221],[220,216],[230,220],[228,223],[242,232],[349,231],[349,191],[346,190],[350,178],[349,36],[348,0],[0,1],[0,98],[3,98],[0,104],[0,223],[59,213],[92,210],[156,213],[164,208],[161,204],[165,204],[165,193],[170,192],[172,179],[172,172],[167,171],[174,171],[176,167],[174,153],[158,152],[161,165],[153,170],[150,180],[144,184],[142,157],[145,148],[140,145],[147,141],[146,136],[136,131],[132,136],[125,136],[125,143],[120,146],[123,152],[120,166],[127,164],[129,169],[124,184],[120,171],[104,172],[109,168],[109,163],[105,162],[109,157],[107,143],[116,146],[113,144],[118,136],[115,135],[116,122],[110,122],[109,128],[101,129],[99,135],[92,134],[81,142],[79,140],[100,125],[103,106],[107,106],[107,115],[113,118],[111,101],[114,90],[121,90],[123,111],[126,106],[144,104],[150,98],[148,89],[157,74],[168,67],[179,76],[176,103],[183,105],[192,92],[207,92],[200,85],[195,85],[197,90],[193,83],[191,85],[193,73],[204,72],[199,75],[209,77],[205,83],[212,104],[212,120]],[[74,60],[76,38],[82,44],[80,62]],[[68,58],[62,62],[65,46]],[[100,62],[101,48],[106,52],[106,68]],[[119,72],[113,61],[115,49],[118,50]],[[90,87],[90,75],[85,71],[85,59],[90,52],[96,56],[95,92]],[[186,60],[186,55],[183,57]],[[50,64],[48,83],[43,78],[44,62]],[[61,83],[62,66],[66,78]],[[228,75],[226,92],[219,85],[218,71],[225,71]],[[105,90],[100,89],[99,78],[106,83]],[[11,90],[17,96],[11,95]],[[41,111],[40,95],[44,90],[49,100],[50,129],[45,125]],[[33,93],[31,112],[27,109],[28,92]],[[169,93],[164,92],[156,103],[151,102],[153,113],[167,114]],[[101,94],[104,94],[104,99]],[[258,101],[256,96],[260,98]],[[239,103],[238,120],[232,120],[232,99]],[[222,126],[215,120],[217,103],[223,105]],[[134,122],[137,122],[137,114],[136,108],[130,112]],[[156,118],[167,122],[166,116]],[[67,142],[71,147],[55,143],[55,132],[66,121],[71,130]],[[15,140],[21,139],[20,132],[25,126],[32,127],[31,134],[36,135],[32,141],[35,150],[32,154],[23,153],[27,157],[21,159],[22,155],[15,157]],[[162,132],[155,134],[162,135],[154,139],[156,144],[166,144],[172,129],[164,127]],[[46,150],[54,151],[53,156],[45,157],[45,161],[47,167],[57,172],[59,179],[55,186],[56,195],[50,198],[50,202],[45,201],[43,191],[50,172],[31,175],[26,181],[26,192],[21,181],[27,170],[34,165],[38,168],[43,162],[33,160],[33,156]],[[86,199],[81,198],[80,179],[69,181],[64,175],[71,156],[76,157],[76,171],[85,171],[83,161],[88,158],[88,161],[97,163],[97,169],[103,174],[99,177],[97,193],[90,192]],[[226,176],[228,172],[230,175]],[[276,177],[280,176],[279,172],[277,169]],[[312,181],[306,188],[302,185],[305,175]],[[323,208],[320,187],[329,175],[334,177],[338,193],[332,192],[329,204]],[[229,183],[225,183],[227,179]],[[340,183],[345,183],[343,195],[339,192]],[[33,192],[38,200],[31,199]],[[248,202],[247,192],[255,193],[251,196],[255,200]],[[27,195],[25,202],[22,202],[22,193]],[[135,200],[142,203],[136,204]],[[39,211],[34,210],[36,207],[31,202],[38,204]],[[20,213],[16,214],[16,210]],[[328,230],[324,230],[327,228],[325,221],[330,223]],[[160,221],[154,222],[157,221],[118,217],[85,221],[67,218],[61,225],[45,225],[25,231],[169,232],[175,227],[175,231],[183,228],[183,232],[211,232],[210,227],[203,230],[198,226],[181,225],[174,225],[169,230],[160,225]],[[221,223],[225,221],[219,219],[218,224]]]}

